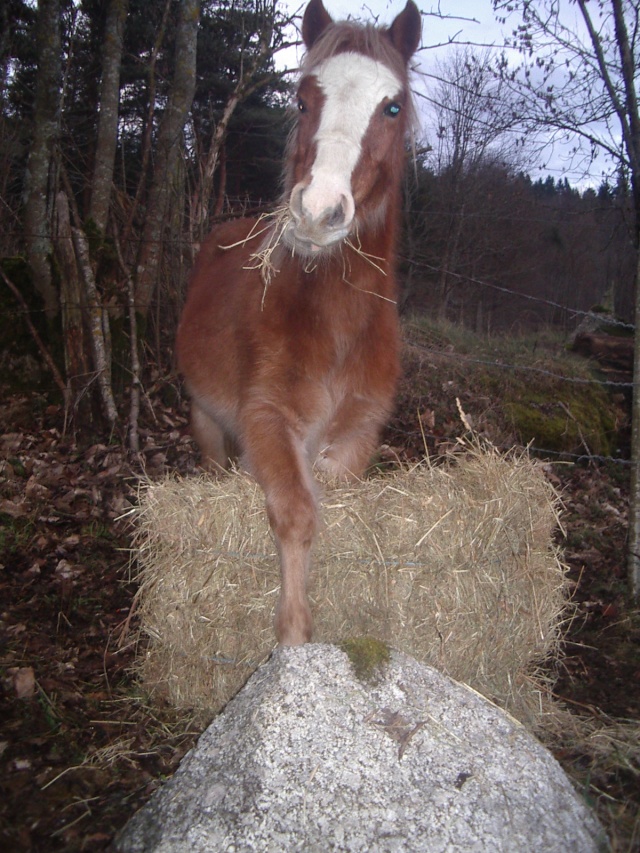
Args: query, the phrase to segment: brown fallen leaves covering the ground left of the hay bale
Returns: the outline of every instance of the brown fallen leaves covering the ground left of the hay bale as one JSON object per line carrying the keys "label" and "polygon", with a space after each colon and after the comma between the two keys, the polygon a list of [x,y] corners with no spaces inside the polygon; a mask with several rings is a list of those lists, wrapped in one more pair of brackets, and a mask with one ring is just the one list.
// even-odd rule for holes
{"label": "brown fallen leaves covering the ground left of the hay bale", "polygon": [[[160,419],[146,474],[193,470],[186,419]],[[119,446],[54,428],[0,435],[1,849],[106,849],[193,741],[146,709],[135,644],[117,645],[135,592],[118,519],[141,473]]]}

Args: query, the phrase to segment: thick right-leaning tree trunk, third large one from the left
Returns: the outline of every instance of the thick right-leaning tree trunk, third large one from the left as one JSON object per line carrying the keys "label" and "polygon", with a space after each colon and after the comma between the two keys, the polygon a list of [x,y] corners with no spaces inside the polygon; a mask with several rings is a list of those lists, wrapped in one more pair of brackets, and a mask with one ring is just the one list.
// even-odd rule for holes
{"label": "thick right-leaning tree trunk, third large one from the left", "polygon": [[199,16],[200,0],[183,0],[175,42],[173,84],[158,131],[153,183],[138,256],[136,305],[144,317],[157,283],[163,226],[179,165],[182,132],[195,92]]}

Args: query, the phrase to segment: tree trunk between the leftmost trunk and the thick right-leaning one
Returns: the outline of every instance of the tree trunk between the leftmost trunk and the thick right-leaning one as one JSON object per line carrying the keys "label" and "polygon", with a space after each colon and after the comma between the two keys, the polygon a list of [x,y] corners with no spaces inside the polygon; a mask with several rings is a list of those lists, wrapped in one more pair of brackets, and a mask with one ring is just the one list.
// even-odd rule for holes
{"label": "tree trunk between the leftmost trunk and the thick right-leaning one", "polygon": [[129,0],[110,0],[102,51],[102,81],[91,204],[89,216],[101,234],[107,227],[111,185],[118,141],[118,104],[120,101],[120,65],[124,25]]}

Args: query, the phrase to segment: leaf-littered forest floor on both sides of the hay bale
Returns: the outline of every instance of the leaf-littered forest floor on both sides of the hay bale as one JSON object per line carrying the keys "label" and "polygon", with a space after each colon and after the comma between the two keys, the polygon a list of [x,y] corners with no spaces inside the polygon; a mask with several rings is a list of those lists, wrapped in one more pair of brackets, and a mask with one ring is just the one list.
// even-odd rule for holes
{"label": "leaf-littered forest floor on both sides of the hay bale", "polygon": [[[141,428],[148,477],[189,473],[196,453],[183,404],[161,394]],[[200,727],[152,707],[132,665],[135,583],[127,510],[140,468],[119,445],[80,446],[46,400],[0,389],[0,849],[98,851],[177,768]],[[413,414],[385,440],[419,452]],[[432,447],[461,425],[429,424]],[[549,464],[563,496],[561,541],[577,615],[555,692],[615,728],[640,720],[640,614],[625,586],[628,477],[607,463]],[[634,749],[597,754],[553,737],[558,759],[598,810],[615,851],[640,849],[638,728]]]}

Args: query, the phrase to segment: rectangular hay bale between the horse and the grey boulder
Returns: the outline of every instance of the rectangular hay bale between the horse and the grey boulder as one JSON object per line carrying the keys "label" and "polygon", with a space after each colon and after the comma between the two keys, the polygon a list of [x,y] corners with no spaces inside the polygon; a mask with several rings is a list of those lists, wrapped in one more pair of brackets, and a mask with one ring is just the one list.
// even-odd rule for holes
{"label": "rectangular hay bale between the horse and the grey boulder", "polygon": [[[526,454],[467,448],[325,487],[310,577],[314,640],[373,635],[534,728],[557,654],[566,577],[558,498]],[[247,475],[147,483],[136,510],[146,689],[217,712],[274,645],[279,568]]]}

